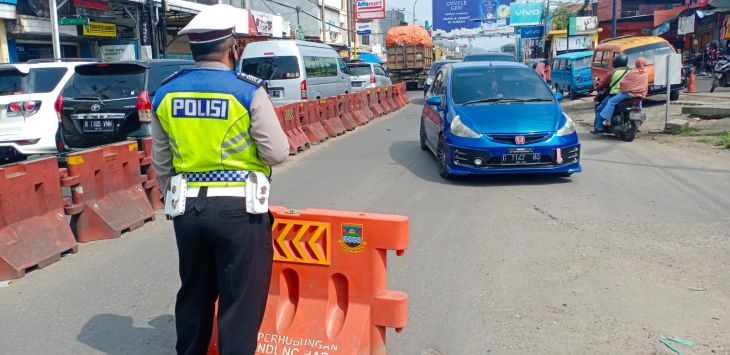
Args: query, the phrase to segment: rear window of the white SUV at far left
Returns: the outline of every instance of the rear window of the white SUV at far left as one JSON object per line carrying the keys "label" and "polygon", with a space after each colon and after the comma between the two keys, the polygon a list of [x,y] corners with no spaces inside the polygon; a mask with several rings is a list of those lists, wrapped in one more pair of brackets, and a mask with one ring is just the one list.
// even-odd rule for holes
{"label": "rear window of the white SUV at far left", "polygon": [[13,67],[0,69],[0,95],[47,93],[61,81],[66,68],[34,68],[28,74]]}

